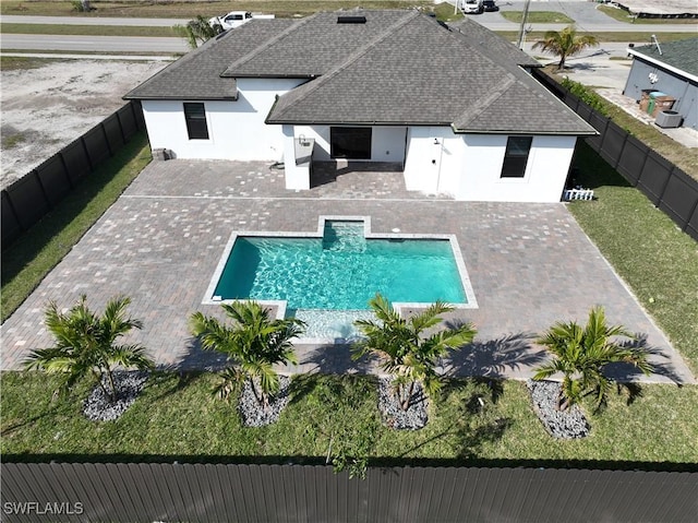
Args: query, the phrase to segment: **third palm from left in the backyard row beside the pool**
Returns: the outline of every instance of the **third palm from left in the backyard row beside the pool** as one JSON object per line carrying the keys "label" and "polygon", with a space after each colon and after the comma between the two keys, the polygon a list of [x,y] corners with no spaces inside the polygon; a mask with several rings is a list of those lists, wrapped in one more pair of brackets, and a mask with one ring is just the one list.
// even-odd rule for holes
{"label": "third palm from left in the backyard row beside the pool", "polygon": [[408,320],[401,318],[381,294],[371,298],[369,306],[378,321],[354,322],[365,340],[354,345],[352,357],[358,359],[366,354],[378,355],[383,359],[382,368],[396,376],[396,396],[402,411],[407,411],[412,403],[417,382],[429,394],[438,391],[441,378],[435,370],[437,358],[448,349],[458,349],[472,342],[476,330],[470,323],[465,323],[425,336],[424,331],[441,322],[440,314],[454,309],[443,301],[436,301]]}

